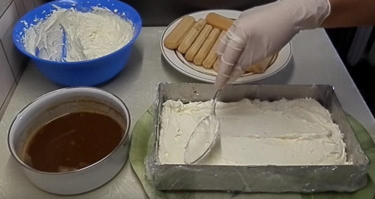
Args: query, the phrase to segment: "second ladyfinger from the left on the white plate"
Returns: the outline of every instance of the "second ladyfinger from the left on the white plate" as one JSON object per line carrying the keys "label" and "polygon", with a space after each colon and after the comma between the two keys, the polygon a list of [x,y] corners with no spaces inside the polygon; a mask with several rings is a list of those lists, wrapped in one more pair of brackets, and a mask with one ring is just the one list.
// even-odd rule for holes
{"label": "second ladyfinger from the left on the white plate", "polygon": [[192,28],[187,32],[186,36],[182,39],[177,50],[182,54],[186,53],[187,49],[189,49],[190,45],[192,42],[194,42],[195,38],[198,36],[199,32],[203,29],[206,23],[207,22],[203,18],[197,20],[194,26],[192,26]]}

